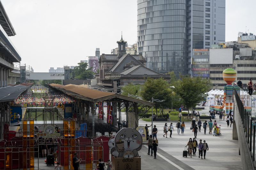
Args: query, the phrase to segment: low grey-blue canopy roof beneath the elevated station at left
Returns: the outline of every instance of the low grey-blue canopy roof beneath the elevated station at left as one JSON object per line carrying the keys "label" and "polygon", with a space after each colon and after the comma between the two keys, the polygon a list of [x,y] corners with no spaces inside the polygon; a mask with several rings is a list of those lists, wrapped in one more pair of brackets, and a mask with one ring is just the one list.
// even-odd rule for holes
{"label": "low grey-blue canopy roof beneath the elevated station at left", "polygon": [[22,92],[30,86],[7,86],[0,88],[0,102],[9,102],[16,100]]}

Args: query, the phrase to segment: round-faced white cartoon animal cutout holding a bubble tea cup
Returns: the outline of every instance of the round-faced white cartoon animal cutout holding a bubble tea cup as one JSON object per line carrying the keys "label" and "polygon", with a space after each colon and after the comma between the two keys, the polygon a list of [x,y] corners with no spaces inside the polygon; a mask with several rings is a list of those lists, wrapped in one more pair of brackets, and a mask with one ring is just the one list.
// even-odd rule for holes
{"label": "round-faced white cartoon animal cutout holding a bubble tea cup", "polygon": [[[118,152],[119,158],[138,157],[138,151],[142,147],[142,137],[134,128],[122,128],[115,136],[115,150],[111,149],[111,154]],[[126,152],[129,151],[129,152]],[[125,154],[124,154],[125,153]],[[114,156],[114,155],[113,155]]]}

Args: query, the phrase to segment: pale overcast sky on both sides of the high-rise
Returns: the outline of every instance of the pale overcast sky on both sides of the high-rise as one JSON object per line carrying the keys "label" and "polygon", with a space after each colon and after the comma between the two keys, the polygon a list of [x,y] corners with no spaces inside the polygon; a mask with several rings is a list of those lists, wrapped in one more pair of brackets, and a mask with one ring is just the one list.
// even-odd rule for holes
{"label": "pale overcast sky on both sides of the high-rise", "polygon": [[[137,0],[1,1],[16,32],[10,39],[21,63],[34,72],[76,66],[95,56],[96,48],[110,54],[121,31],[128,44],[137,40]],[[236,41],[238,32],[248,29],[256,34],[255,6],[255,0],[226,0],[226,41]]]}

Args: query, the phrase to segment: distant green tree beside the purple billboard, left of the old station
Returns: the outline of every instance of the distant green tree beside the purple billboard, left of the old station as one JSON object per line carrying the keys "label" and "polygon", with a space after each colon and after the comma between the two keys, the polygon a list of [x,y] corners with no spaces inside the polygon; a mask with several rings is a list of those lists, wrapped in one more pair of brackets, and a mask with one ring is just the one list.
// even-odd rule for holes
{"label": "distant green tree beside the purple billboard, left of the old station", "polygon": [[78,66],[75,66],[74,68],[74,75],[75,75],[75,78],[78,78],[80,80],[84,80],[86,78],[92,78],[93,77],[93,72],[92,72],[92,67],[91,68],[87,68],[88,66],[88,63],[77,63]]}

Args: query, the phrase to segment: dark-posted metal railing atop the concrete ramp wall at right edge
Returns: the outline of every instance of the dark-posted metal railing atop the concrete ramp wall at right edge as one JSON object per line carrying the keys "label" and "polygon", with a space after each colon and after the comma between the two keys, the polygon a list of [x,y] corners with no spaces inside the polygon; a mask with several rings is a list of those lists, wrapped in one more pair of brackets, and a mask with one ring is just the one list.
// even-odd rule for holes
{"label": "dark-posted metal railing atop the concrete ramp wall at right edge", "polygon": [[234,96],[239,112],[237,115],[240,116],[244,136],[246,137],[247,146],[250,150],[250,156],[255,165],[256,99],[236,85]]}

